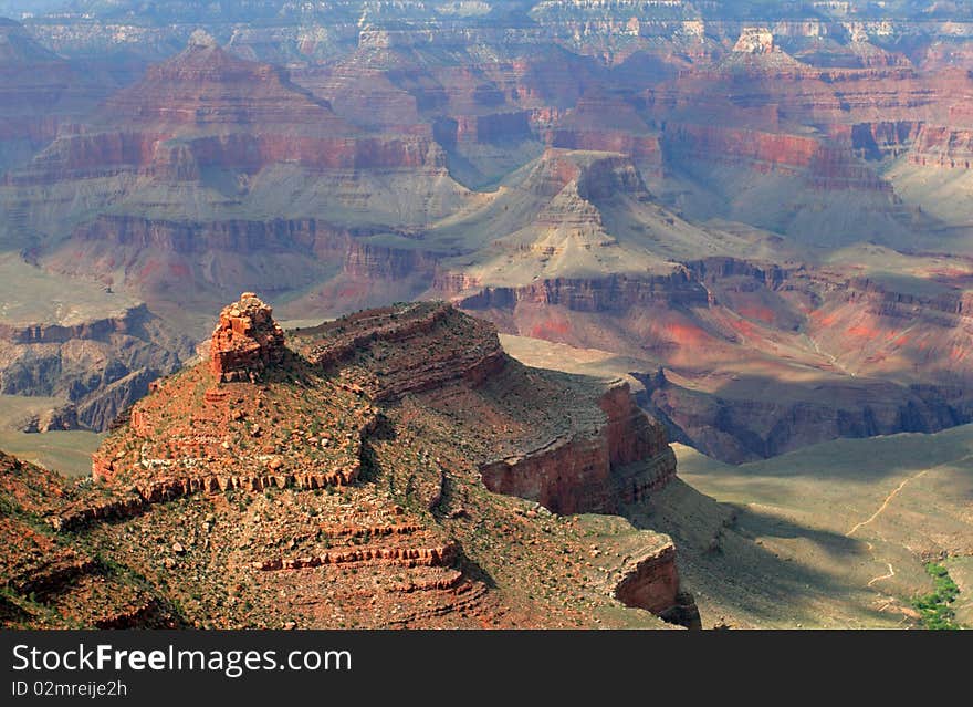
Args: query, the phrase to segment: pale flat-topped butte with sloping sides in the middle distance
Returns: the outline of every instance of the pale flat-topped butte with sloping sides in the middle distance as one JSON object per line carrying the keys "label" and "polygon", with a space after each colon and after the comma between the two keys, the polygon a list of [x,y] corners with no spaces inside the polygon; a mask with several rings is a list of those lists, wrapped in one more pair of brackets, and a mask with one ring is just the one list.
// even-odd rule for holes
{"label": "pale flat-topped butte with sloping sides in the middle distance", "polygon": [[630,280],[650,297],[653,279],[682,278],[680,260],[758,248],[660,207],[624,155],[554,148],[512,175],[489,205],[444,220],[431,235],[450,242],[463,238],[470,249],[481,243],[475,253],[440,268],[437,284],[451,295],[477,288],[583,290],[605,287],[593,281]]}

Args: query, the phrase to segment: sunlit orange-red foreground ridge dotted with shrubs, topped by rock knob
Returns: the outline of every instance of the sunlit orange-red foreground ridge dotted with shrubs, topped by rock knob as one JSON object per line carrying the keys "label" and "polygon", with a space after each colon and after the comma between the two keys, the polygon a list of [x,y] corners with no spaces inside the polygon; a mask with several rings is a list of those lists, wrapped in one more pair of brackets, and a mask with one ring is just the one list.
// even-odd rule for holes
{"label": "sunlit orange-red foreground ridge dotted with shrubs, topped by rock knob", "polygon": [[[154,384],[119,419],[94,457],[94,487],[0,469],[18,499],[4,503],[4,522],[25,519],[38,542],[66,548],[46,569],[8,548],[19,618],[4,621],[34,625],[55,607],[98,626],[556,626],[604,605],[699,625],[667,537],[631,529],[626,548],[640,559],[616,568],[608,558],[617,581],[568,580],[548,545],[580,558],[588,533],[482,485],[483,462],[503,446],[531,446],[537,472],[584,466],[577,446],[552,454],[533,443],[557,437],[567,419],[596,440],[601,467],[580,469],[574,489],[565,480],[565,499],[582,498],[605,470],[613,508],[615,497],[634,500],[622,477],[659,467],[659,488],[674,471],[671,450],[626,387],[526,368],[506,358],[492,326],[442,304],[360,312],[286,343],[279,332],[254,295],[227,308],[209,361]],[[228,361],[244,350],[245,361]],[[226,375],[244,368],[259,376]],[[79,533],[109,560],[76,552]],[[146,578],[135,594],[132,572]],[[200,578],[191,586],[187,572]],[[527,596],[552,572],[589,597],[584,611]],[[90,576],[117,590],[100,605],[104,617],[93,617]]]}

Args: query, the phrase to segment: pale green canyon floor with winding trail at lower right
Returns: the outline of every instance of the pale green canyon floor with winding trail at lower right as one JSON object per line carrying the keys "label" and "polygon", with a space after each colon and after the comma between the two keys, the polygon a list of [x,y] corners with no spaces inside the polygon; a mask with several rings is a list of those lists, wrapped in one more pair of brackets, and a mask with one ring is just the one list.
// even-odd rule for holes
{"label": "pale green canyon floor with winding trail at lower right", "polygon": [[[716,539],[719,552],[707,552],[710,539],[686,519],[656,518],[656,527],[677,538],[680,569],[708,597],[700,602],[704,613],[728,623],[912,627],[920,618],[914,600],[932,590],[924,564],[959,570],[973,552],[964,500],[973,480],[970,435],[966,425],[838,440],[740,467],[677,445],[687,484],[735,512],[735,528],[758,551],[741,562],[743,548],[731,532]],[[670,492],[679,489],[659,499],[662,516],[673,507]],[[680,521],[683,530],[673,527]],[[751,570],[775,578],[764,596],[733,589],[747,584]],[[784,593],[796,601],[781,602]],[[962,623],[959,606],[956,614]]]}

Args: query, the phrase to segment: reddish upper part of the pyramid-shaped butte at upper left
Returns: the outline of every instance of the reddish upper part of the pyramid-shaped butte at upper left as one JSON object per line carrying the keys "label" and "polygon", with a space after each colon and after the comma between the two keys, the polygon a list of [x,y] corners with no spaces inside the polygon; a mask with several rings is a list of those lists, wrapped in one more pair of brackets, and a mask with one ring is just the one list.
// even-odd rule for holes
{"label": "reddish upper part of the pyramid-shaped butte at upper left", "polygon": [[254,173],[284,162],[312,169],[438,169],[444,157],[428,135],[364,135],[282,70],[197,38],[8,179],[51,184],[135,170],[192,181],[207,167]]}

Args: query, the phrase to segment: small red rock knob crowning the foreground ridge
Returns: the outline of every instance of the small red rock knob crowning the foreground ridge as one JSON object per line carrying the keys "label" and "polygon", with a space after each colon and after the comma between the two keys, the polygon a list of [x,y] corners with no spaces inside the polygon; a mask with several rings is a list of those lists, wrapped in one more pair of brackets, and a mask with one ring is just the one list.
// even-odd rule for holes
{"label": "small red rock knob crowning the foreground ridge", "polygon": [[284,332],[272,313],[252,292],[220,312],[210,344],[210,370],[218,381],[254,381],[283,361]]}

